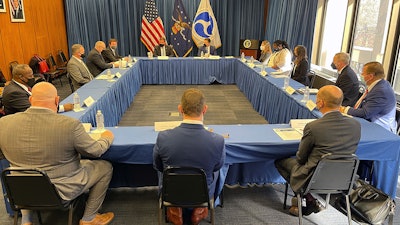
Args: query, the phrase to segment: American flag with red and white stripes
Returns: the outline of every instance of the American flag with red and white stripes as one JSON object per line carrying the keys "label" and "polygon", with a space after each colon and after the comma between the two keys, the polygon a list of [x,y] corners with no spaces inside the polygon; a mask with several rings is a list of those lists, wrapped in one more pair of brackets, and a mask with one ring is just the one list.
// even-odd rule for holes
{"label": "American flag with red and white stripes", "polygon": [[142,17],[142,32],[140,40],[151,52],[158,45],[160,37],[165,37],[164,25],[158,16],[158,10],[154,0],[146,0],[144,15]]}

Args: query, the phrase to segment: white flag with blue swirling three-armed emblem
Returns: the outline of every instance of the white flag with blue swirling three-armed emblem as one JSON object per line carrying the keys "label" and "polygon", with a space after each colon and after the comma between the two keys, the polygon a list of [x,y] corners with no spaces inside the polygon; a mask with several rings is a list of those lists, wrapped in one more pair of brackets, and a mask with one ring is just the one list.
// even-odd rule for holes
{"label": "white flag with blue swirling three-armed emblem", "polygon": [[210,0],[201,0],[193,20],[192,38],[197,47],[203,45],[205,38],[211,39],[215,48],[221,47],[218,24],[212,11]]}

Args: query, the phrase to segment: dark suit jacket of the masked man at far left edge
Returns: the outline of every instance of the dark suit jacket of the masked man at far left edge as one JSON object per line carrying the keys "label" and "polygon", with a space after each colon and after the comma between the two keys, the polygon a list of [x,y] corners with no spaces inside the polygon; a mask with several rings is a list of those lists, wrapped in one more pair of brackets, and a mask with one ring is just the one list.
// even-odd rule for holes
{"label": "dark suit jacket of the masked man at far left edge", "polygon": [[23,112],[29,108],[31,106],[29,96],[27,91],[12,80],[3,90],[3,105],[6,115]]}

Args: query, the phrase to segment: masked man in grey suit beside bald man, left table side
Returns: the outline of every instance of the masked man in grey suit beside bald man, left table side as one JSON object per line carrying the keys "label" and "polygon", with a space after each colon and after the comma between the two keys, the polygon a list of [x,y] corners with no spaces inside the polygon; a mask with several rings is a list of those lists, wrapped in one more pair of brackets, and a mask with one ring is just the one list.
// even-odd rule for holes
{"label": "masked man in grey suit beside bald man, left table side", "polygon": [[90,73],[82,58],[85,57],[85,48],[80,44],[74,44],[71,47],[72,57],[67,64],[67,72],[69,73],[74,89],[82,87],[84,84],[93,80],[93,75]]}

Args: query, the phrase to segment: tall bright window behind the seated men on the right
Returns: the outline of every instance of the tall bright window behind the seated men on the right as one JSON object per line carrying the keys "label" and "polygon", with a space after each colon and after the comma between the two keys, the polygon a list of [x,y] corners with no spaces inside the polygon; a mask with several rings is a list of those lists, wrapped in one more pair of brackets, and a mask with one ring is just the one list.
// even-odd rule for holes
{"label": "tall bright window behind the seated men on the right", "polygon": [[361,74],[370,61],[382,63],[385,54],[392,0],[360,0],[357,10],[351,67]]}

